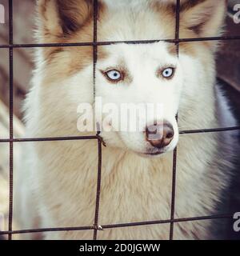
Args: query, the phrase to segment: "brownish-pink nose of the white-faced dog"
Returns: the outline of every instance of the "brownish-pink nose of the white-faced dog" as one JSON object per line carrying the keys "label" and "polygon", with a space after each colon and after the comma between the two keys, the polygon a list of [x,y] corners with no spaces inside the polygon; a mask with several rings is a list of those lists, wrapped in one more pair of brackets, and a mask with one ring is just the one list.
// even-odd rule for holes
{"label": "brownish-pink nose of the white-faced dog", "polygon": [[158,123],[146,127],[146,140],[158,149],[168,145],[174,138],[174,127],[169,122]]}

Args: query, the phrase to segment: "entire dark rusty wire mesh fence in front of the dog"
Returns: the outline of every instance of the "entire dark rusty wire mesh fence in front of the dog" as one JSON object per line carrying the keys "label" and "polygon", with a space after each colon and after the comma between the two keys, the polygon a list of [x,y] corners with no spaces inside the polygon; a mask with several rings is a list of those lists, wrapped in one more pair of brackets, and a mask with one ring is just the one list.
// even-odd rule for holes
{"label": "entire dark rusty wire mesh fence in front of the dog", "polygon": [[[62,232],[62,231],[77,231],[77,230],[93,230],[93,239],[98,238],[99,230],[107,230],[113,228],[130,227],[130,226],[150,226],[160,224],[170,224],[170,240],[174,238],[174,223],[178,222],[194,222],[199,220],[232,218],[232,214],[216,214],[210,216],[198,216],[194,218],[174,218],[175,209],[175,192],[176,192],[176,176],[177,176],[177,158],[178,151],[174,150],[173,157],[173,172],[172,172],[172,194],[171,194],[171,209],[170,218],[166,220],[145,221],[145,222],[130,222],[130,223],[111,223],[109,225],[101,226],[98,223],[99,207],[100,207],[100,193],[101,193],[101,178],[102,178],[102,145],[104,145],[100,129],[95,136],[78,136],[78,137],[52,137],[52,138],[14,138],[14,48],[36,48],[36,47],[65,47],[65,46],[93,46],[93,76],[94,76],[94,96],[95,96],[95,74],[96,63],[98,61],[98,46],[108,46],[118,43],[126,44],[149,44],[154,42],[170,42],[176,45],[177,54],[179,53],[179,45],[181,42],[201,42],[201,41],[220,41],[220,40],[238,40],[239,35],[236,36],[221,36],[208,38],[179,38],[180,28],[180,0],[176,0],[176,23],[175,23],[175,38],[174,39],[159,39],[159,40],[138,40],[138,41],[114,41],[114,42],[98,42],[98,0],[94,0],[94,40],[93,42],[75,42],[75,43],[36,43],[36,44],[14,44],[14,30],[13,30],[13,1],[9,0],[9,44],[0,45],[0,49],[9,49],[9,69],[10,69],[10,138],[1,139],[0,143],[10,144],[10,184],[9,184],[9,225],[7,231],[0,231],[0,235],[8,235],[8,239],[12,239],[13,234],[27,234],[27,233],[43,233],[43,232]],[[178,118],[177,118],[178,119]],[[98,126],[98,124],[97,124]],[[240,126],[221,127],[213,129],[202,130],[180,130],[180,134],[206,134],[215,132],[224,132],[230,130],[240,130]],[[16,142],[52,142],[52,141],[77,141],[77,140],[96,140],[98,142],[98,178],[97,191],[95,202],[94,224],[92,226],[75,226],[75,227],[57,227],[44,228],[32,230],[13,230],[13,190],[14,190],[14,143]]]}

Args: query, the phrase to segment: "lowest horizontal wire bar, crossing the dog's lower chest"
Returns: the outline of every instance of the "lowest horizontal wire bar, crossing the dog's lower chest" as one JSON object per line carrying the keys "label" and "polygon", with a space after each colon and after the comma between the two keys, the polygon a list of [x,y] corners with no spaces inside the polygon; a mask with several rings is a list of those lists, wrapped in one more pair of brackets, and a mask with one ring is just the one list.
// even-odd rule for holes
{"label": "lowest horizontal wire bar, crossing the dog's lower chest", "polygon": [[[149,221],[149,222],[130,222],[130,223],[120,223],[120,224],[110,224],[102,225],[102,230],[121,228],[121,227],[130,227],[130,226],[150,226],[150,225],[160,225],[170,222],[196,222],[210,219],[221,219],[221,218],[232,218],[232,214],[216,214],[209,216],[200,216],[192,218],[175,218],[173,220],[158,220],[158,221]],[[62,231],[81,231],[81,230],[94,230],[94,226],[74,226],[74,227],[57,227],[57,228],[44,228],[44,229],[32,229],[32,230],[13,230],[13,231],[0,231],[0,235],[6,234],[30,234],[30,233],[44,233],[44,232],[62,232]]]}

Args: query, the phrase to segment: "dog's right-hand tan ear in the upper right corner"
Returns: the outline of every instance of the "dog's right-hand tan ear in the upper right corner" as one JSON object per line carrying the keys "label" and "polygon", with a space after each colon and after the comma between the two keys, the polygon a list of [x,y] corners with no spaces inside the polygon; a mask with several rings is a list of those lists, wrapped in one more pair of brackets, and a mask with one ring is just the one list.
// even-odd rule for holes
{"label": "dog's right-hand tan ear in the upper right corner", "polygon": [[214,37],[222,33],[226,0],[192,0],[183,2],[180,26],[198,37]]}

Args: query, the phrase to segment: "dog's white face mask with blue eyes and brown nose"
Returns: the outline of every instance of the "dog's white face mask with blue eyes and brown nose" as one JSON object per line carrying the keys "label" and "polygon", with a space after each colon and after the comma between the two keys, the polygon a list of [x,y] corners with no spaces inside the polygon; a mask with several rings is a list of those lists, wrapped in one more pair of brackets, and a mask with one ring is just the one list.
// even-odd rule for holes
{"label": "dog's white face mask with blue eyes and brown nose", "polygon": [[106,47],[106,58],[96,69],[96,96],[103,108],[117,108],[110,120],[103,113],[102,137],[108,145],[144,155],[162,154],[177,145],[182,66],[168,47],[165,42]]}

